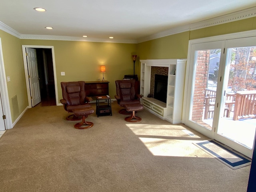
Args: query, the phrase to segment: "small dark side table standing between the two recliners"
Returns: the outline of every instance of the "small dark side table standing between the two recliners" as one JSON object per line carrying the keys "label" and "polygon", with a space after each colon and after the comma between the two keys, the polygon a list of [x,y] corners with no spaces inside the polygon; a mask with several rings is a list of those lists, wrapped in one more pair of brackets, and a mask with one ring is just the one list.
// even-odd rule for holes
{"label": "small dark side table standing between the two recliners", "polygon": [[[103,105],[100,104],[100,100],[106,100],[107,104],[105,102]],[[99,117],[99,115],[111,115],[112,116],[112,108],[111,108],[111,98],[104,96],[96,96],[96,115]]]}

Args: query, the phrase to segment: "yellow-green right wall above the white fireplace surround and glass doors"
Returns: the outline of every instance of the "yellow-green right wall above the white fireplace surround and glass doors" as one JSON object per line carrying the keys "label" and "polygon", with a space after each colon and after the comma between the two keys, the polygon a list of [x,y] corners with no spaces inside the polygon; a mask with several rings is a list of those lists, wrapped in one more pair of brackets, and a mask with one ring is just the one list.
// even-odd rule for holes
{"label": "yellow-green right wall above the white fireplace surround and glass doors", "polygon": [[[137,45],[137,54],[139,59],[187,58],[189,40],[248,30],[256,30],[256,17],[142,42]],[[140,77],[140,62],[137,74]]]}

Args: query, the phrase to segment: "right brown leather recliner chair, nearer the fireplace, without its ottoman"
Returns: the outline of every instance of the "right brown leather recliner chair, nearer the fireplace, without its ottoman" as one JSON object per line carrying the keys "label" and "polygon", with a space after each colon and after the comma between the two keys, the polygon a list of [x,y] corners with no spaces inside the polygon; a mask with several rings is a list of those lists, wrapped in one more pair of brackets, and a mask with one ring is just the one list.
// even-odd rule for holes
{"label": "right brown leather recliner chair, nearer the fireplace, without its ottoman", "polygon": [[[135,79],[132,80],[116,80],[115,98],[119,106],[124,107],[125,104],[140,103],[142,96],[136,93]],[[130,114],[126,109],[119,110],[120,114]]]}

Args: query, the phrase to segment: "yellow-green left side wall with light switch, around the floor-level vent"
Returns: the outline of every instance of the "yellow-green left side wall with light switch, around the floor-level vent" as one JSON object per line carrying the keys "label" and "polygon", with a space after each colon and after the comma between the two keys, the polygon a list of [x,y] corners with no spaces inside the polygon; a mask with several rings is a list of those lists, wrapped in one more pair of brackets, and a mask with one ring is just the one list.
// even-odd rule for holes
{"label": "yellow-green left side wall with light switch, around the floor-level vent", "polygon": [[0,30],[0,38],[2,41],[3,60],[6,78],[7,76],[10,76],[10,82],[7,82],[7,89],[10,101],[12,122],[14,122],[18,116],[14,116],[11,98],[17,95],[18,108],[20,114],[28,106],[28,96],[26,90],[22,49],[20,46],[19,38],[16,38],[2,30]]}

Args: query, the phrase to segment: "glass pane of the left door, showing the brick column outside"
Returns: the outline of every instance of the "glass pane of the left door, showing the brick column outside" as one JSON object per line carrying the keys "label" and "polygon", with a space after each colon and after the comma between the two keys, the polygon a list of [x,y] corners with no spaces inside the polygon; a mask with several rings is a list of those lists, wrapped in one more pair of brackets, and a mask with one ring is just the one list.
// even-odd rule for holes
{"label": "glass pane of the left door, showing the brick column outside", "polygon": [[198,50],[189,120],[212,130],[221,49]]}

